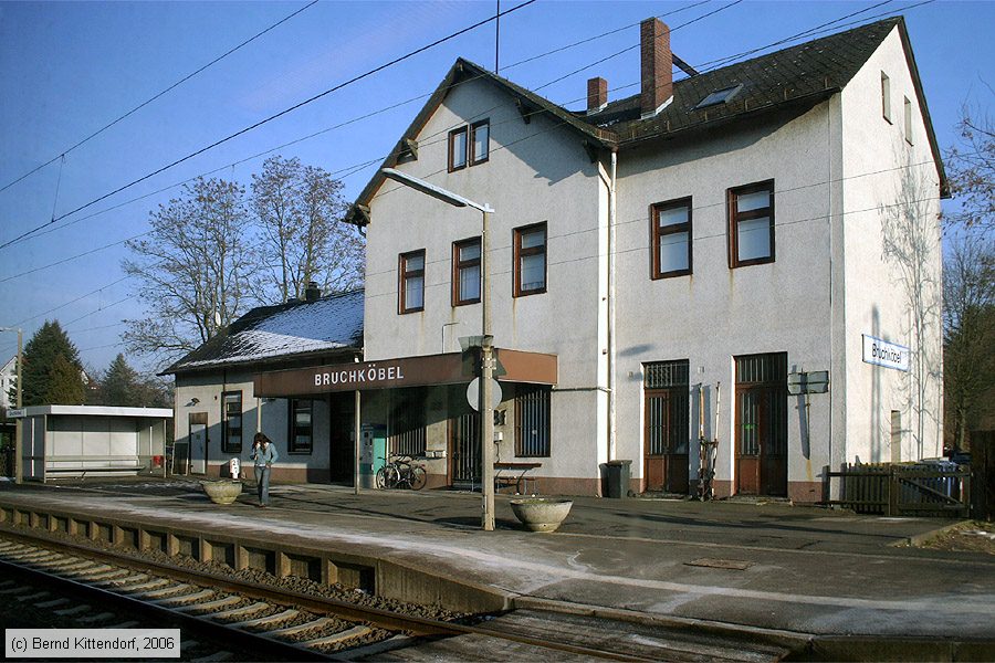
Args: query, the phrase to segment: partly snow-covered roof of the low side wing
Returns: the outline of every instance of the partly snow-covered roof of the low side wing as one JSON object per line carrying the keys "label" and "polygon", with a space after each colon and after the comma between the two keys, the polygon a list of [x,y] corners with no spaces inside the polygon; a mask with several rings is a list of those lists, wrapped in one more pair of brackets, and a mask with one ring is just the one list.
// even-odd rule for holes
{"label": "partly snow-covered roof of the low side wing", "polygon": [[302,359],[363,347],[363,290],[253,308],[159,375]]}

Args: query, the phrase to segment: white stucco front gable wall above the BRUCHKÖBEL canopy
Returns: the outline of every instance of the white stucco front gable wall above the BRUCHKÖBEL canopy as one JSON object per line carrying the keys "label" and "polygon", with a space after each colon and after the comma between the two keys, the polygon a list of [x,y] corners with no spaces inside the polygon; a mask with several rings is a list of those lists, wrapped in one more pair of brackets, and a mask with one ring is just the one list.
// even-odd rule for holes
{"label": "white stucco front gable wall above the BRUCHK\u00d6BEL canopy", "polygon": [[[447,172],[449,130],[490,119],[486,164]],[[400,170],[491,204],[491,306],[499,347],[559,357],[552,396],[552,457],[541,475],[597,477],[605,448],[604,328],[599,327],[606,196],[579,137],[545,116],[526,124],[490,83],[454,87],[418,135],[418,159]],[[481,307],[450,301],[454,241],[480,235],[481,214],[388,181],[370,202],[367,234],[367,360],[459,350],[480,334]],[[547,292],[515,298],[513,229],[547,223]],[[425,311],[398,315],[398,255],[426,250]],[[599,373],[599,371],[601,371]],[[583,431],[578,434],[578,431]],[[504,455],[502,455],[505,459]]]}

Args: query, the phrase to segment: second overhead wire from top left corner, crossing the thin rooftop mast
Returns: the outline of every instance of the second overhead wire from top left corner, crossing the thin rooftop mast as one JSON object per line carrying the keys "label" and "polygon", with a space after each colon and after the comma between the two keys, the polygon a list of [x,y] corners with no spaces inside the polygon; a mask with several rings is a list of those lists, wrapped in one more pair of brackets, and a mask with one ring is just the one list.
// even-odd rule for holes
{"label": "second overhead wire from top left corner, crossing the thin rooftop mast", "polygon": [[85,210],[85,209],[87,209],[87,208],[90,208],[90,207],[96,204],[97,202],[101,202],[102,200],[106,200],[107,198],[111,198],[112,196],[115,196],[115,194],[117,194],[117,193],[121,193],[122,191],[125,191],[125,190],[127,190],[127,189],[130,189],[132,187],[134,187],[134,186],[137,185],[137,183],[144,182],[144,181],[146,181],[146,180],[148,180],[148,179],[150,179],[150,178],[153,178],[153,177],[155,177],[155,176],[157,176],[157,175],[159,175],[159,173],[161,173],[161,172],[165,172],[165,171],[169,170],[170,168],[174,168],[174,167],[176,167],[176,166],[178,166],[178,165],[180,165],[180,164],[182,164],[182,162],[185,162],[185,161],[188,161],[188,160],[192,159],[193,157],[197,157],[197,156],[199,156],[199,155],[202,155],[202,154],[205,154],[205,152],[207,152],[207,151],[209,151],[209,150],[211,150],[211,149],[213,149],[213,148],[216,148],[216,147],[218,147],[218,146],[220,146],[220,145],[223,145],[223,144],[228,143],[229,140],[232,140],[232,139],[234,139],[234,138],[238,138],[239,136],[242,136],[242,135],[244,135],[244,134],[248,134],[249,131],[252,131],[253,129],[256,129],[256,128],[259,128],[259,127],[261,127],[261,126],[263,126],[263,125],[265,125],[265,124],[269,124],[269,123],[273,122],[274,119],[277,119],[277,118],[280,118],[280,117],[283,117],[284,115],[287,115],[289,113],[293,113],[294,110],[296,110],[296,109],[298,109],[298,108],[302,108],[303,106],[306,106],[306,105],[308,105],[308,104],[312,104],[312,103],[316,102],[317,99],[324,98],[325,96],[327,96],[327,95],[329,95],[329,94],[333,94],[333,93],[335,93],[335,92],[338,92],[339,90],[343,90],[343,88],[345,88],[345,87],[347,87],[347,86],[349,86],[349,85],[353,85],[354,83],[358,83],[359,81],[363,81],[363,80],[365,80],[365,78],[368,78],[368,77],[373,76],[374,74],[377,74],[377,73],[379,73],[379,72],[381,72],[381,71],[384,71],[384,70],[386,70],[386,69],[388,69],[388,67],[391,67],[391,66],[394,66],[394,65],[396,65],[396,64],[398,64],[398,63],[400,63],[400,62],[404,62],[404,61],[406,61],[406,60],[409,60],[409,59],[413,57],[415,55],[418,55],[418,54],[420,54],[420,53],[423,53],[425,51],[428,51],[428,50],[430,50],[430,49],[433,49],[433,48],[438,46],[439,44],[446,43],[446,42],[448,42],[448,41],[451,41],[451,40],[455,39],[457,36],[460,36],[460,35],[462,35],[462,34],[465,34],[465,33],[468,33],[468,32],[471,32],[471,31],[473,31],[473,30],[480,28],[481,25],[485,25],[485,24],[490,23],[491,21],[494,21],[499,15],[506,15],[506,14],[513,13],[513,12],[519,11],[520,9],[522,9],[522,8],[524,8],[524,7],[527,7],[527,6],[530,6],[530,4],[534,3],[534,2],[536,2],[536,0],[525,0],[524,2],[522,2],[522,3],[520,3],[520,4],[515,6],[515,7],[513,7],[513,8],[511,8],[511,9],[507,9],[507,10],[501,12],[501,14],[495,14],[495,15],[493,15],[493,17],[489,17],[489,18],[486,18],[486,19],[483,19],[483,20],[481,20],[481,21],[478,21],[478,22],[473,23],[472,25],[468,25],[467,28],[462,28],[462,29],[460,29],[460,30],[457,30],[455,32],[451,32],[451,33],[447,34],[446,36],[440,38],[440,39],[437,39],[436,41],[433,41],[433,42],[431,42],[431,43],[429,43],[429,44],[426,44],[426,45],[423,45],[423,46],[419,46],[418,49],[415,49],[415,50],[412,50],[412,51],[408,51],[408,52],[405,53],[404,55],[400,55],[400,56],[395,57],[395,59],[392,59],[392,60],[390,60],[390,61],[388,61],[388,62],[386,62],[386,63],[384,63],[384,64],[380,64],[380,65],[375,66],[375,67],[373,67],[373,69],[370,69],[370,70],[367,70],[366,72],[364,72],[364,73],[362,73],[362,74],[358,74],[358,75],[356,75],[356,76],[353,76],[352,78],[348,78],[348,80],[346,80],[346,81],[344,81],[344,82],[342,82],[342,83],[338,83],[337,85],[333,85],[332,87],[329,87],[329,88],[327,88],[327,90],[325,90],[325,91],[323,91],[323,92],[320,92],[318,94],[312,95],[311,97],[308,97],[308,98],[306,98],[306,99],[304,99],[304,101],[297,102],[296,104],[293,104],[292,106],[289,106],[289,107],[284,108],[283,110],[280,110],[280,112],[277,112],[277,113],[273,113],[272,115],[270,115],[270,116],[268,116],[268,117],[265,117],[265,118],[263,118],[263,119],[260,119],[260,120],[258,120],[258,122],[255,122],[255,123],[253,123],[253,124],[251,124],[251,125],[249,125],[249,126],[245,126],[245,127],[239,129],[238,131],[234,131],[233,134],[229,134],[229,135],[226,136],[224,138],[221,138],[221,139],[219,139],[219,140],[216,140],[216,141],[213,141],[213,143],[211,143],[211,144],[209,144],[209,145],[207,145],[207,146],[205,146],[205,147],[201,147],[201,148],[199,148],[199,149],[197,149],[197,150],[195,150],[195,151],[192,151],[192,152],[190,152],[190,154],[188,154],[188,155],[186,155],[186,156],[184,156],[184,157],[180,157],[179,159],[174,160],[174,161],[170,162],[170,164],[167,164],[166,166],[163,166],[163,167],[160,167],[160,168],[157,168],[156,170],[154,170],[154,171],[151,171],[151,172],[149,172],[149,173],[146,173],[146,175],[144,175],[144,176],[137,178],[137,179],[134,179],[134,180],[132,180],[130,182],[128,182],[128,183],[126,183],[126,185],[123,185],[123,186],[121,186],[121,187],[114,189],[113,191],[108,191],[107,193],[104,193],[104,194],[102,194],[102,196],[98,196],[97,198],[94,198],[94,199],[91,200],[90,202],[86,202],[86,203],[84,203],[84,204],[81,204],[81,206],[78,206],[78,207],[76,207],[76,208],[70,210],[69,212],[65,212],[65,213],[63,213],[63,214],[60,214],[59,217],[55,217],[54,219],[52,219],[52,220],[49,221],[48,223],[43,223],[43,224],[41,224],[41,225],[38,225],[38,227],[35,227],[35,228],[29,230],[28,232],[25,232],[25,233],[23,233],[23,234],[17,236],[17,238],[14,238],[13,240],[8,240],[8,241],[4,242],[3,244],[0,244],[0,249],[6,248],[6,246],[8,246],[9,244],[11,244],[12,242],[14,242],[14,241],[17,241],[17,240],[20,240],[20,239],[22,239],[22,238],[24,238],[24,236],[27,236],[27,235],[33,234],[34,232],[36,232],[36,231],[43,229],[43,228],[44,228],[45,225],[48,225],[49,223],[54,223],[54,222],[56,222],[56,221],[61,221],[62,219],[65,219],[66,217],[70,217],[70,215],[72,215],[72,214],[75,214],[76,212],[81,212],[81,211],[83,211],[83,210]]}

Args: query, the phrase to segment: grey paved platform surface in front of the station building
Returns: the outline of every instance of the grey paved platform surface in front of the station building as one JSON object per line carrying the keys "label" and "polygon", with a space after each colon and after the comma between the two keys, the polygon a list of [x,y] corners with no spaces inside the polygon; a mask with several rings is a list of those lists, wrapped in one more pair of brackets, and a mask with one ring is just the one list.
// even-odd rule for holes
{"label": "grey paved platform surface in front of the station building", "polygon": [[515,596],[804,633],[995,641],[995,559],[901,546],[950,525],[777,502],[574,498],[555,534],[520,528],[498,497],[276,484],[229,507],[196,483],[87,480],[0,485],[30,501],[190,528],[355,546]]}

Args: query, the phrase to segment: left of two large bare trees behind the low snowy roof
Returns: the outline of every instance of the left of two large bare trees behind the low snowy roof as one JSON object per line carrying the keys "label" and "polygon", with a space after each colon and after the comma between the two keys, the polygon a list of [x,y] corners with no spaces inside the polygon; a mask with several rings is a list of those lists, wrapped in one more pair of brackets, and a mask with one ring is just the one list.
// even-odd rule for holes
{"label": "left of two large bare trees behind the low snowy roof", "polygon": [[144,319],[126,320],[128,349],[169,361],[217,336],[252,303],[256,261],[244,235],[244,189],[198,179],[149,214],[151,233],[130,241],[125,273],[142,284]]}

